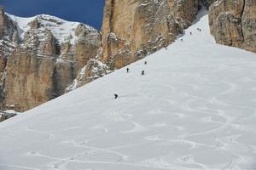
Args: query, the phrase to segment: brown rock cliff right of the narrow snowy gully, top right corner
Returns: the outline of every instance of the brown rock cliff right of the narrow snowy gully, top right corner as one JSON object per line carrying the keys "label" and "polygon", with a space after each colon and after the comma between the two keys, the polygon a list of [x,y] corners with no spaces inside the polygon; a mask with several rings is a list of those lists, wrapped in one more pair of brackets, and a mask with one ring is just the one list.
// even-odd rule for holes
{"label": "brown rock cliff right of the narrow snowy gully, top right corner", "polygon": [[256,53],[256,1],[218,0],[209,11],[216,42]]}

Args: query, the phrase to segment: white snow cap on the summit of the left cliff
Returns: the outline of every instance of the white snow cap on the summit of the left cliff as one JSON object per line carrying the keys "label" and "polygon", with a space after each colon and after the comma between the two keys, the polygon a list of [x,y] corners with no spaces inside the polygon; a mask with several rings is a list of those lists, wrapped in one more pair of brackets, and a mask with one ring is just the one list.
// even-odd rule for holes
{"label": "white snow cap on the summit of the left cliff", "polygon": [[[75,29],[81,24],[79,22],[62,20],[48,14],[39,14],[31,18],[22,18],[11,14],[8,15],[17,23],[17,26],[20,29],[20,37],[24,37],[25,32],[31,28],[30,24],[36,20],[38,21],[38,25],[40,25],[40,27],[51,31],[59,43],[70,41],[73,44],[78,39],[78,37],[75,35]],[[96,29],[90,26],[86,26],[86,29],[92,32],[96,31]]]}

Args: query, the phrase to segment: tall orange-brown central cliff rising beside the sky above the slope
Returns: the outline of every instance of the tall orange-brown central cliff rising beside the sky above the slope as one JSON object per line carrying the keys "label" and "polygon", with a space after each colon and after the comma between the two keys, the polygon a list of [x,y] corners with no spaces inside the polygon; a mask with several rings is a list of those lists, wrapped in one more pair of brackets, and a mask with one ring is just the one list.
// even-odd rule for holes
{"label": "tall orange-brown central cliff rising beside the sky above the slope", "polygon": [[102,60],[120,68],[166,47],[191,25],[197,0],[107,0],[102,23]]}

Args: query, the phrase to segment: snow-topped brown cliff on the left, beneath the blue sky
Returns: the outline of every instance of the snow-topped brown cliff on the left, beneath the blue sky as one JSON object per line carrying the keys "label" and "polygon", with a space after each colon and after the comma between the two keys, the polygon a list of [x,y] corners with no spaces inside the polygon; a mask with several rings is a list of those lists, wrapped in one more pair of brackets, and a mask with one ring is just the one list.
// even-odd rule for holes
{"label": "snow-topped brown cliff on the left, beneath the blue sky", "polygon": [[[64,94],[102,47],[98,31],[49,15],[0,12],[1,109],[26,111]],[[90,62],[89,62],[90,64]]]}

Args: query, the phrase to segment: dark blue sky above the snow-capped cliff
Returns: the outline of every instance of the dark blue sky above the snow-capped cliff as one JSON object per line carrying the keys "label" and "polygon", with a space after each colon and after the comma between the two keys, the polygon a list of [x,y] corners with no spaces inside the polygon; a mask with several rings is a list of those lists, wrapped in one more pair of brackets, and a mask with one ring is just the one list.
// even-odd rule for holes
{"label": "dark blue sky above the snow-capped cliff", "polygon": [[50,14],[100,29],[105,0],[0,0],[6,12],[22,17]]}

